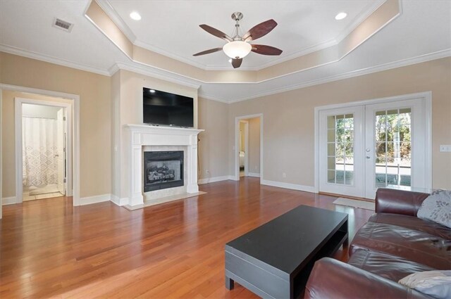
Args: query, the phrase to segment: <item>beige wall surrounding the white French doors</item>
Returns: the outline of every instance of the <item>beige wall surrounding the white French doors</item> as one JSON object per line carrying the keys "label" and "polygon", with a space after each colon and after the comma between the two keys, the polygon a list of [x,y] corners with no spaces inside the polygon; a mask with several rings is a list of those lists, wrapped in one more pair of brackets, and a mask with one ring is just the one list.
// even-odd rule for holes
{"label": "beige wall surrounding the white French doors", "polygon": [[[229,132],[235,117],[263,113],[264,179],[314,186],[314,107],[421,91],[433,97],[433,187],[451,189],[451,153],[439,151],[440,144],[451,144],[451,58],[233,103]],[[233,164],[230,151],[229,174]]]}

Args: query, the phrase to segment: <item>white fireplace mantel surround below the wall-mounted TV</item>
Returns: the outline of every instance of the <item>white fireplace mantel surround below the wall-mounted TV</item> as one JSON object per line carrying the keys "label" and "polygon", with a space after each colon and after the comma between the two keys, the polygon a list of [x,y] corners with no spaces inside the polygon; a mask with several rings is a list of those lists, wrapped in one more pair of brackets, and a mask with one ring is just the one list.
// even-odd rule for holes
{"label": "white fireplace mantel surround below the wall-mounted TV", "polygon": [[129,151],[129,205],[142,205],[143,196],[143,146],[187,146],[187,193],[199,192],[197,185],[197,134],[203,129],[159,127],[152,125],[125,125],[130,130]]}

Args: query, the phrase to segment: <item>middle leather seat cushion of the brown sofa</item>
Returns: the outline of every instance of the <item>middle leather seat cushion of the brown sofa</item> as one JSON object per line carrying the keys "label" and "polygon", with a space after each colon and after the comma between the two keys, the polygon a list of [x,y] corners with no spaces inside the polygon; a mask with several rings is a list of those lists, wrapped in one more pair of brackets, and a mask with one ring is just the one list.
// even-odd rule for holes
{"label": "middle leather seat cushion of the brown sofa", "polygon": [[350,245],[350,255],[359,248],[388,253],[435,269],[451,269],[451,251],[446,239],[393,224],[366,222]]}

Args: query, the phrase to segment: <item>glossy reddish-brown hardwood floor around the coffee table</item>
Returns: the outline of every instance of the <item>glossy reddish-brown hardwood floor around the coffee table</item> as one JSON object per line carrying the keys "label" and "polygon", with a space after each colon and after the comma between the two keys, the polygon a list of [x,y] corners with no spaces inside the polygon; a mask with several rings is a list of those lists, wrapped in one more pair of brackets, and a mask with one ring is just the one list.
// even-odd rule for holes
{"label": "glossy reddish-brown hardwood floor around the coffee table", "polygon": [[[4,206],[0,298],[257,298],[225,288],[225,243],[298,205],[347,212],[351,237],[372,214],[257,178],[200,189],[207,194],[131,212],[73,208],[71,198]],[[335,257],[346,260],[347,248]]]}

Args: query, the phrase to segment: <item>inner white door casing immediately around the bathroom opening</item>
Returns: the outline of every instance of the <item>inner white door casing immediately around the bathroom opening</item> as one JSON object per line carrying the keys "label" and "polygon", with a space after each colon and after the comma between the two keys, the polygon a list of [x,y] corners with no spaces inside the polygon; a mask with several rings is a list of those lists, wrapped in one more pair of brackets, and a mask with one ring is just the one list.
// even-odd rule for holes
{"label": "inner white door casing immediately around the bathroom opening", "polygon": [[59,103],[53,101],[41,101],[35,100],[32,98],[14,98],[14,116],[15,116],[15,137],[16,137],[16,203],[23,202],[23,142],[22,142],[22,134],[23,134],[23,125],[22,125],[22,117],[23,117],[23,109],[22,104],[32,104],[38,106],[51,106],[51,107],[60,107],[66,108],[66,165],[68,165],[66,170],[67,177],[67,190],[66,196],[73,195],[73,163],[71,157],[73,152],[72,146],[72,132],[70,132],[70,127],[72,125],[72,105],[70,103]]}

